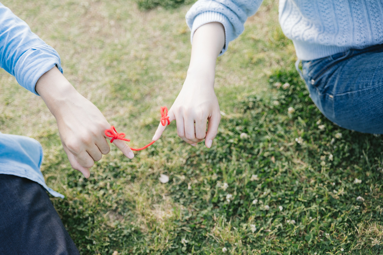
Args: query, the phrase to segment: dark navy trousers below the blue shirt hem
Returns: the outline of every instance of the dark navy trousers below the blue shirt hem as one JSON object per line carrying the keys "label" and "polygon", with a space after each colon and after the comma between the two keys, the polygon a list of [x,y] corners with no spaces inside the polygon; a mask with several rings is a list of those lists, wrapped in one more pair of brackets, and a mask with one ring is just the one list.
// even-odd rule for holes
{"label": "dark navy trousers below the blue shirt hem", "polygon": [[80,254],[37,182],[0,174],[0,254]]}

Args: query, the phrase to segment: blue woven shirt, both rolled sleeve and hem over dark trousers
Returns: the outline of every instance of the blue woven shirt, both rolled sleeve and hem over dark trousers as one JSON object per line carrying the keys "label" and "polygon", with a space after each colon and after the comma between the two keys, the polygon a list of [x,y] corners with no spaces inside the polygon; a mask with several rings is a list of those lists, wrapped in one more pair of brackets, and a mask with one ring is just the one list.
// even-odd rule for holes
{"label": "blue woven shirt, both rolled sleeve and hem over dark trousers", "polygon": [[[62,72],[59,54],[0,3],[0,67],[37,94],[34,89],[37,80],[55,65]],[[40,171],[42,160],[43,149],[38,141],[0,132],[0,174],[36,181],[53,196],[64,198],[46,185]]]}

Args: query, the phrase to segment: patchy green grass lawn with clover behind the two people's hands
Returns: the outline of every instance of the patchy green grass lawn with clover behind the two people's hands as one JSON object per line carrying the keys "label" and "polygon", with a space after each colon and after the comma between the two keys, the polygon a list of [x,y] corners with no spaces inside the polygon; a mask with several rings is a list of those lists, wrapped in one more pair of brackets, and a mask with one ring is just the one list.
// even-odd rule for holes
{"label": "patchy green grass lawn with clover behind the two people's hands", "polygon": [[[59,52],[68,80],[131,146],[151,141],[186,77],[190,5],[2,3]],[[224,115],[211,149],[185,144],[172,123],[133,160],[111,145],[84,179],[44,102],[3,70],[0,131],[43,145],[46,182],[65,195],[51,200],[83,255],[383,254],[382,139],[324,118],[295,59],[278,2],[264,1],[218,59]]]}

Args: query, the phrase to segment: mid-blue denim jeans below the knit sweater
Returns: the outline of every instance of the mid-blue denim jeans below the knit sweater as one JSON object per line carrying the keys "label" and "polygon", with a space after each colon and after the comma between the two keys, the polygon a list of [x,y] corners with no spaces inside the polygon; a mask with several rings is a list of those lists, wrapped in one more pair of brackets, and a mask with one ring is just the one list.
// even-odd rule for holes
{"label": "mid-blue denim jeans below the knit sweater", "polygon": [[310,97],[332,122],[383,134],[383,44],[302,61]]}

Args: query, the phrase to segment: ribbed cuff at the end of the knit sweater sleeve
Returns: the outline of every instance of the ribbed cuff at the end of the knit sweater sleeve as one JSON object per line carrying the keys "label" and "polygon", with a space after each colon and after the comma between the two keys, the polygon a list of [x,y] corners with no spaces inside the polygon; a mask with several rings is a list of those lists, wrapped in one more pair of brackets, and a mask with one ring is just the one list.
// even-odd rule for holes
{"label": "ribbed cuff at the end of the knit sweater sleeve", "polygon": [[193,35],[195,31],[197,30],[197,28],[211,22],[219,22],[223,25],[225,29],[225,45],[223,46],[223,49],[218,55],[218,56],[221,56],[228,49],[228,45],[230,41],[229,38],[230,38],[230,35],[233,34],[233,27],[231,23],[229,22],[228,18],[222,13],[215,12],[215,11],[205,11],[203,13],[198,14],[193,21],[193,26],[191,28],[191,34],[190,34],[190,41],[191,43],[193,43]]}

